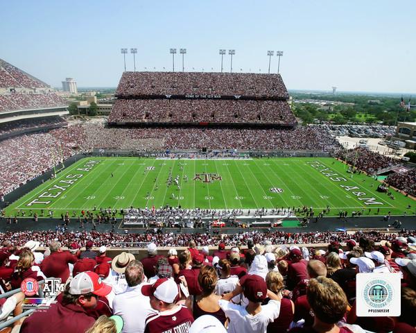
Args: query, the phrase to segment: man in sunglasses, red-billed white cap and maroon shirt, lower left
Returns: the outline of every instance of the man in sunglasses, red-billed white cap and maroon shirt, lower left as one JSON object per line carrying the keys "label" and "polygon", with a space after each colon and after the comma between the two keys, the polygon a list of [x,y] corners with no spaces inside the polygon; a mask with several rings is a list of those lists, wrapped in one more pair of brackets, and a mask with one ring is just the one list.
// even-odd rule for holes
{"label": "man in sunglasses, red-billed white cap and maroon shirt, lower left", "polygon": [[94,272],[76,275],[63,293],[62,300],[49,309],[35,311],[21,325],[21,333],[85,333],[94,325],[88,309],[97,306],[98,296],[107,296],[111,287]]}

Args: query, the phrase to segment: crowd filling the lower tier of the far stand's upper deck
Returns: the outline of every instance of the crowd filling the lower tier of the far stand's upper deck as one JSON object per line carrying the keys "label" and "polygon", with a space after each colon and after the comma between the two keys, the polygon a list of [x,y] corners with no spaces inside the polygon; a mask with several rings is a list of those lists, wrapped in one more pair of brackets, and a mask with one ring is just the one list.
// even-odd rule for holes
{"label": "crowd filling the lower tier of the far stand's upper deck", "polygon": [[286,101],[118,99],[108,121],[293,124],[296,119]]}

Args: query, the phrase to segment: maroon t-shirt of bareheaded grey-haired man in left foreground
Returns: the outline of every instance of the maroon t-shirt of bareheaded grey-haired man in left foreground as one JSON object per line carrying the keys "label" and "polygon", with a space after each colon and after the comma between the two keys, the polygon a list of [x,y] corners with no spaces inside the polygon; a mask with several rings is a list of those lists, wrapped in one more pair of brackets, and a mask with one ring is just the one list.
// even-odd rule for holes
{"label": "maroon t-shirt of bareheaded grey-haired man in left foreground", "polygon": [[62,283],[65,283],[69,278],[68,264],[75,264],[77,260],[78,258],[68,251],[53,252],[49,257],[43,259],[40,270],[46,278],[60,278]]}

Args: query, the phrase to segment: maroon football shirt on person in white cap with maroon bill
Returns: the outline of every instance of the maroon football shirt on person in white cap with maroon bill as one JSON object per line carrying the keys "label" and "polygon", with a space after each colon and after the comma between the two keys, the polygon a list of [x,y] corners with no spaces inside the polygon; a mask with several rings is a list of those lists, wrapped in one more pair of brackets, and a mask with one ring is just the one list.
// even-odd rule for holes
{"label": "maroon football shirt on person in white cap with maroon bill", "polygon": [[180,305],[174,309],[148,316],[144,333],[187,333],[192,323],[191,312],[184,305]]}

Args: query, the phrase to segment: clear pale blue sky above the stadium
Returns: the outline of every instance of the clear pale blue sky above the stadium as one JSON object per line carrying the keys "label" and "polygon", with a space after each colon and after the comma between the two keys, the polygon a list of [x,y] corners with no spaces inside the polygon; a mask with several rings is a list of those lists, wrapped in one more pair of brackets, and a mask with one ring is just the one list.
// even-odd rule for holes
{"label": "clear pale blue sky above the stadium", "polygon": [[[55,87],[115,87],[121,47],[138,70],[172,69],[169,49],[187,48],[185,70],[267,72],[284,51],[288,89],[416,92],[416,1],[2,1],[0,58]],[[132,55],[126,57],[133,69]],[[175,69],[182,67],[177,54]],[[229,71],[229,56],[224,57]],[[277,72],[277,57],[271,71]]]}

